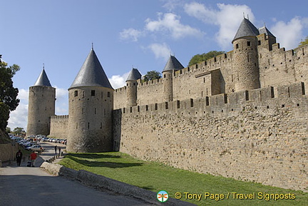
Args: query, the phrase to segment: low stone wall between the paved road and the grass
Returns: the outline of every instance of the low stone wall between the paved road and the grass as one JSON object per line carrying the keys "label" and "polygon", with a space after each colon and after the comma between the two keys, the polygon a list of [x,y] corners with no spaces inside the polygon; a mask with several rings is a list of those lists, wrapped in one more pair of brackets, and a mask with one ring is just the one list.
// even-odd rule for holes
{"label": "low stone wall between the paved road and the grass", "polygon": [[96,175],[86,170],[76,171],[72,170],[71,168],[66,168],[62,165],[47,163],[47,162],[44,162],[41,165],[41,168],[43,170],[46,170],[47,172],[50,172],[53,175],[71,177],[81,181],[85,185],[111,190],[121,195],[137,197],[141,200],[144,200],[145,202],[150,202],[155,205],[193,205],[189,202],[183,202],[180,200],[175,200],[173,198],[169,198],[167,202],[160,203],[156,199],[155,192],[145,190],[143,188],[136,187],[133,185],[128,185],[124,182],[119,182],[117,180],[104,177],[102,175]]}

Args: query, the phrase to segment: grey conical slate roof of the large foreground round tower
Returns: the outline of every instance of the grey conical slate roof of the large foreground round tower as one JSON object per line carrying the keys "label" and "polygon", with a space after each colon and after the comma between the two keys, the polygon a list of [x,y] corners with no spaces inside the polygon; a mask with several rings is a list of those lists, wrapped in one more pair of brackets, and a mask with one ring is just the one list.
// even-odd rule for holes
{"label": "grey conical slate roof of the large foreground round tower", "polygon": [[112,88],[93,48],[88,54],[86,61],[83,63],[83,66],[81,66],[81,69],[70,88],[81,86],[102,86]]}

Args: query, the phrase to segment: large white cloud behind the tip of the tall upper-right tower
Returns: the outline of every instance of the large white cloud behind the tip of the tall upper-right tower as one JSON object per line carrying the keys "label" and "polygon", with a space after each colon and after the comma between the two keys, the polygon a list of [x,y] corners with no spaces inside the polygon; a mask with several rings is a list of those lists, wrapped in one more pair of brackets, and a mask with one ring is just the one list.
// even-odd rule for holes
{"label": "large white cloud behind the tip of the tall upper-right tower", "polygon": [[[240,22],[243,19],[243,12],[245,16],[249,16],[250,21],[254,21],[255,16],[252,14],[250,7],[246,5],[230,5],[217,4],[218,10],[207,8],[204,4],[196,2],[185,4],[185,12],[205,22],[205,24],[214,24],[219,26],[219,31],[216,35],[216,41],[223,49],[230,46],[234,38]],[[227,17],[227,18],[226,18]]]}

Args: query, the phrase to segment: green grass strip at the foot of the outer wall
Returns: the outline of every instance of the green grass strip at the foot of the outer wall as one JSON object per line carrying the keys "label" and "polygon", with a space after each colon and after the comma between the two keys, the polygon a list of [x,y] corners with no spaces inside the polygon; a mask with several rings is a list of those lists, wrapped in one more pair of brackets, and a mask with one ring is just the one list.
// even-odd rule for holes
{"label": "green grass strip at the foot of the outer wall", "polygon": [[[146,190],[158,192],[166,190],[171,197],[180,192],[180,200],[192,202],[196,205],[308,205],[308,193],[270,187],[254,182],[242,182],[227,177],[200,174],[187,170],[163,165],[155,162],[145,162],[130,157],[124,153],[70,153],[59,163],[74,170],[88,170],[110,177],[114,180],[126,182]],[[201,194],[202,199],[188,200],[185,193]],[[205,192],[223,194],[223,200],[211,200]],[[229,193],[229,198],[227,194]],[[231,192],[250,194],[255,192],[254,200],[239,200],[233,198]],[[258,192],[263,194],[294,194],[294,200],[259,200]],[[263,193],[265,192],[265,193]],[[188,193],[186,193],[188,194]],[[239,196],[240,197],[240,196]],[[213,197],[215,198],[215,196]],[[252,197],[253,198],[253,197]]]}

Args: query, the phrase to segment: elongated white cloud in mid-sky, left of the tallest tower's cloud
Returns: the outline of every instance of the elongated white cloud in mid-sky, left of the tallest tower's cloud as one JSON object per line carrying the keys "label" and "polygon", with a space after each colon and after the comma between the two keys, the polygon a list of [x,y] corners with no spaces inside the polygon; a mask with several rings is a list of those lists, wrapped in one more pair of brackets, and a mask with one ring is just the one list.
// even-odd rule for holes
{"label": "elongated white cloud in mid-sky, left of the tallest tower's cloud", "polygon": [[186,36],[202,36],[202,32],[199,29],[195,29],[191,26],[184,25],[180,23],[180,16],[167,13],[158,14],[158,21],[152,21],[147,19],[145,21],[145,29],[148,31],[160,31],[165,33],[170,33],[170,35],[175,38],[184,38]]}

